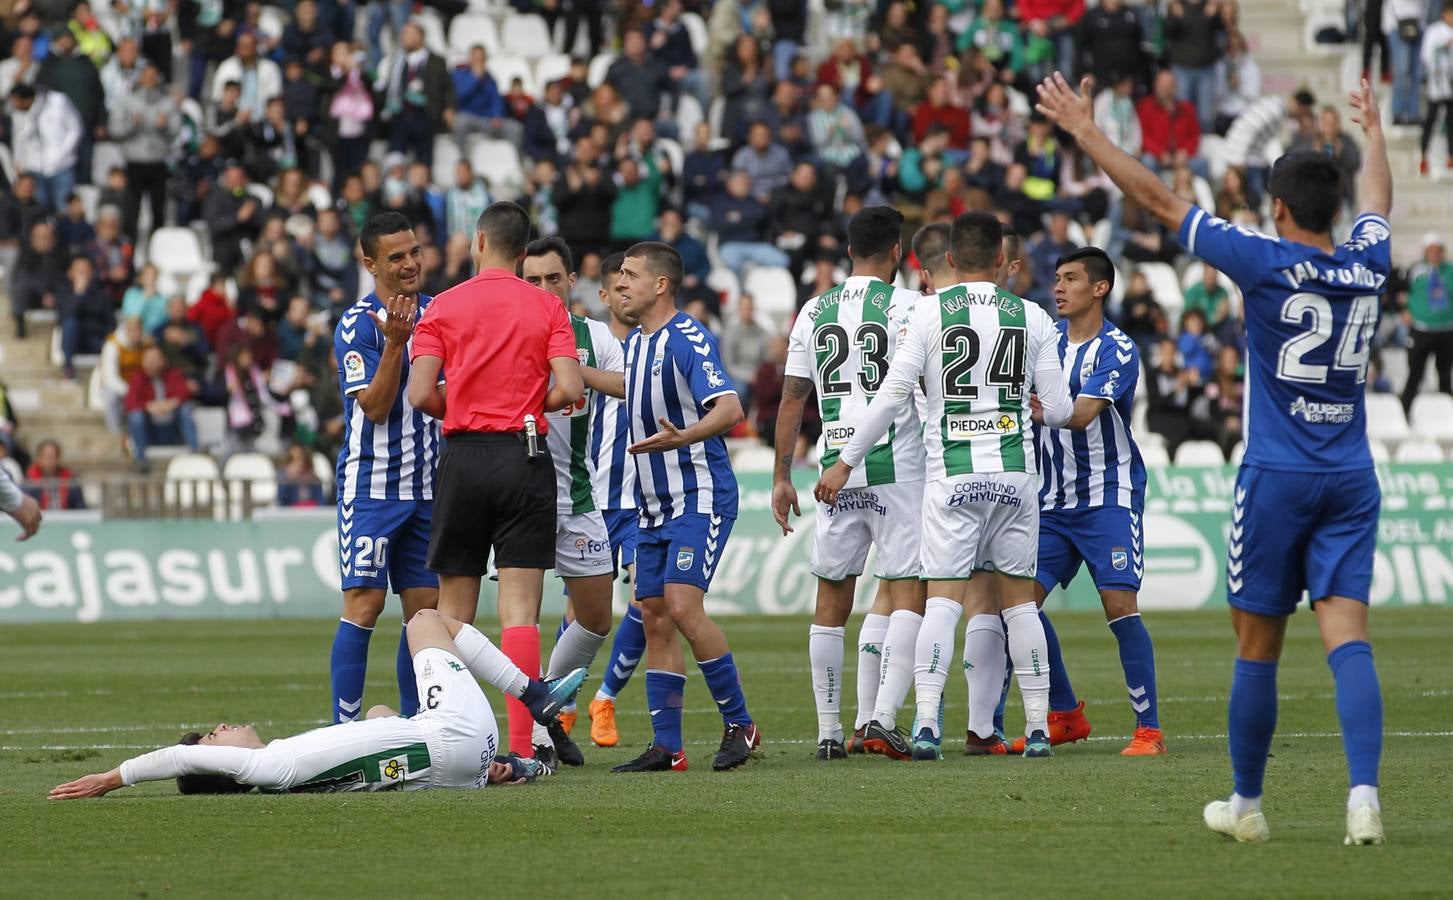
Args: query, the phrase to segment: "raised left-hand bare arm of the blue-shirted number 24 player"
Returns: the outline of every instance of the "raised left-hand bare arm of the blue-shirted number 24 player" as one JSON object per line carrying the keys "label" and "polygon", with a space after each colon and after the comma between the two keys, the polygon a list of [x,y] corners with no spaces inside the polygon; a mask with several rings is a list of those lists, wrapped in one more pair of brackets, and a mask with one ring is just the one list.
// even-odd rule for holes
{"label": "raised left-hand bare arm of the blue-shirted number 24 player", "polygon": [[1080,93],[1075,93],[1065,81],[1065,76],[1056,71],[1039,84],[1039,103],[1035,108],[1075,138],[1080,148],[1100,169],[1104,169],[1110,180],[1125,192],[1125,196],[1135,201],[1171,231],[1178,230],[1186,214],[1190,212],[1190,204],[1171,193],[1158,174],[1116,147],[1100,131],[1094,124],[1090,84],[1088,77],[1081,80]]}

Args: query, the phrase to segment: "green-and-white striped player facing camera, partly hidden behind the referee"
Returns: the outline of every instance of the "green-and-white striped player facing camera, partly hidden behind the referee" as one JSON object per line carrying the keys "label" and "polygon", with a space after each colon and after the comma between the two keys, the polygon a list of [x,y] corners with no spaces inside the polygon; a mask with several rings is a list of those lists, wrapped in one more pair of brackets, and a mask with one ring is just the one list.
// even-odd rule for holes
{"label": "green-and-white striped player facing camera, partly hidden behind the referee", "polygon": [[[558,237],[530,241],[520,262],[520,278],[549,291],[568,308],[570,292],[575,286],[570,247]],[[606,323],[580,316],[571,316],[570,323],[575,329],[580,365],[625,372],[620,342]],[[610,634],[616,561],[610,554],[606,521],[596,509],[596,457],[590,452],[594,398],[594,391],[587,388],[584,398],[575,406],[549,413],[546,445],[555,461],[555,574],[565,582],[565,592],[570,595],[567,615],[571,618],[551,651],[545,667],[549,678],[580,666],[588,669]],[[574,710],[567,710],[561,718],[572,726]],[[570,739],[568,728],[546,736],[536,727],[532,743],[535,756],[545,756],[546,762],[551,750],[565,765],[578,766],[586,762],[580,747]]]}

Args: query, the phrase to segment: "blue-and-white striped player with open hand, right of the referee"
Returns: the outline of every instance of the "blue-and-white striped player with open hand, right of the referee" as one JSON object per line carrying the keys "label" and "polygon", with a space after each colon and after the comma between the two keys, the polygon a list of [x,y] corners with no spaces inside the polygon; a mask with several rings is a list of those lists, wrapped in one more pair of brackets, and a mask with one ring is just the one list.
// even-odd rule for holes
{"label": "blue-and-white striped player with open hand, right of the referee", "polygon": [[657,241],[626,250],[618,281],[641,329],[626,345],[629,451],[636,462],[636,598],[645,619],[647,705],[655,731],[638,759],[618,772],[686,768],[681,696],[686,664],[677,632],[692,644],[722,714],[713,769],[747,762],[761,743],[747,714],[741,678],[721,628],[706,615],[706,589],[737,519],[737,475],[722,435],[742,420],[716,340],[676,310],[681,256]]}

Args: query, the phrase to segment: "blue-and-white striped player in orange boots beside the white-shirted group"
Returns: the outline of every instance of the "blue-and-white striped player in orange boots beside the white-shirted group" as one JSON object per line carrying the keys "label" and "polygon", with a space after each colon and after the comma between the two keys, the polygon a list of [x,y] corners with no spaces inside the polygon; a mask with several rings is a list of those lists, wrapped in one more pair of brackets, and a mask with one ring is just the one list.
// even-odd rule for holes
{"label": "blue-and-white striped player in orange boots beside the white-shirted group", "polygon": [[[1142,516],[1145,464],[1130,433],[1141,355],[1135,342],[1104,317],[1114,265],[1098,247],[1065,254],[1055,270],[1059,359],[1075,398],[1065,427],[1036,425],[1035,445],[1045,473],[1039,490],[1037,599],[1090,568],[1135,711],[1135,737],[1125,756],[1165,752],[1155,704],[1155,650],[1141,621],[1138,595],[1145,574]],[[1049,740],[1090,736],[1084,704],[1075,698],[1049,616]]]}

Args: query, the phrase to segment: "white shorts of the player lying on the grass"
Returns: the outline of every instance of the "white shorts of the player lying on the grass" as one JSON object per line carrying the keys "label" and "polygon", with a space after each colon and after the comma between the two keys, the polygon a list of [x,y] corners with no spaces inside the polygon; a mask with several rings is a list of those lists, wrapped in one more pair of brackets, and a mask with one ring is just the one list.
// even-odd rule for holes
{"label": "white shorts of the player lying on the grass", "polygon": [[479,682],[455,654],[437,647],[414,654],[418,715],[426,734],[432,788],[482,788],[500,752],[500,730]]}

